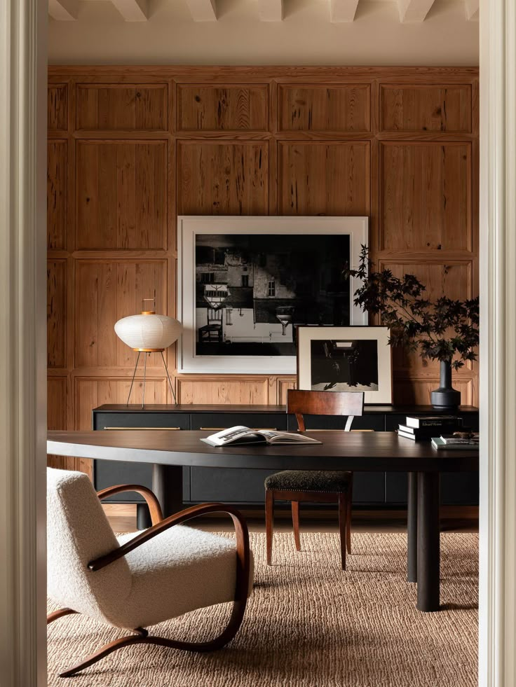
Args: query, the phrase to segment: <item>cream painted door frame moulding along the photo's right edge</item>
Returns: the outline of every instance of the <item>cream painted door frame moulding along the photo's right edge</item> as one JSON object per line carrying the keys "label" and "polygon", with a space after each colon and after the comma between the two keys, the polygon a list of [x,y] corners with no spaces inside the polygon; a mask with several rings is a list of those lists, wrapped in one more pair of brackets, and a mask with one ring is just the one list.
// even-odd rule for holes
{"label": "cream painted door frame moulding along the photo's right edge", "polygon": [[480,4],[480,687],[516,684],[516,5]]}

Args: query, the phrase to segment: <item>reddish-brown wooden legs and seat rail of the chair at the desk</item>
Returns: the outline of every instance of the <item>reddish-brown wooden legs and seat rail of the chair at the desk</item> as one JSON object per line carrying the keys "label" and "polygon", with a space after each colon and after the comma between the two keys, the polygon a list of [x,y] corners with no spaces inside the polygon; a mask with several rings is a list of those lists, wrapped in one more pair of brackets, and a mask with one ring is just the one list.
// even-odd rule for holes
{"label": "reddish-brown wooden legs and seat rail of the chair at the desk", "polygon": [[265,532],[267,542],[267,564],[272,563],[272,540],[274,529],[274,501],[290,501],[292,504],[292,525],[296,550],[301,550],[299,536],[299,501],[313,503],[339,504],[339,534],[341,543],[341,564],[346,570],[346,550],[351,553],[351,501],[352,483],[348,492],[297,492],[278,489],[265,490]]}

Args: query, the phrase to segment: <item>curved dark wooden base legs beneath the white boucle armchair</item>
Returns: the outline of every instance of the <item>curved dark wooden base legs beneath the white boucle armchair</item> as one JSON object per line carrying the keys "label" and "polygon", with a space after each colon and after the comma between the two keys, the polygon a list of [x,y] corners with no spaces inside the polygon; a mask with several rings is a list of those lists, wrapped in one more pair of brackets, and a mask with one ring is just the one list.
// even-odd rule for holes
{"label": "curved dark wooden base legs beneath the white boucle armchair", "polygon": [[[159,646],[184,649],[185,651],[215,651],[216,649],[226,646],[226,644],[228,644],[228,642],[235,637],[240,625],[242,624],[246,602],[247,596],[243,599],[236,599],[235,602],[233,602],[231,618],[229,618],[229,623],[226,625],[226,629],[219,634],[218,637],[215,637],[215,639],[210,639],[210,641],[176,641],[175,639],[166,639],[166,637],[156,637],[156,635],[149,634],[144,627],[135,627],[133,630],[135,634],[131,634],[128,637],[120,637],[120,639],[114,639],[114,641],[110,641],[109,644],[104,644],[104,646],[102,646],[98,651],[90,653],[90,655],[86,656],[86,658],[80,663],[77,663],[67,670],[64,670],[59,674],[59,676],[71,677],[80,670],[83,670],[84,668],[93,665],[93,663],[100,661],[102,658],[105,658],[110,653],[113,653],[113,651],[116,651],[123,646],[130,646],[131,644],[158,644]],[[72,611],[72,609],[60,609],[59,611],[54,611],[47,616],[47,625],[58,618],[62,618],[62,616],[67,616],[69,613],[76,612],[77,611]]]}

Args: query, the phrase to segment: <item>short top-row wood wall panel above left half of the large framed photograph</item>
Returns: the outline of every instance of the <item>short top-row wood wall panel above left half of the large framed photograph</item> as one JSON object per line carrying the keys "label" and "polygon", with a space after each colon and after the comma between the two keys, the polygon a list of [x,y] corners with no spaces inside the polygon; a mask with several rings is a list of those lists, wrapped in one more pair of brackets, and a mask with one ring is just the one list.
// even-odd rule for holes
{"label": "short top-row wood wall panel above left half of the large framed photograph", "polygon": [[268,85],[178,85],[179,131],[266,131]]}

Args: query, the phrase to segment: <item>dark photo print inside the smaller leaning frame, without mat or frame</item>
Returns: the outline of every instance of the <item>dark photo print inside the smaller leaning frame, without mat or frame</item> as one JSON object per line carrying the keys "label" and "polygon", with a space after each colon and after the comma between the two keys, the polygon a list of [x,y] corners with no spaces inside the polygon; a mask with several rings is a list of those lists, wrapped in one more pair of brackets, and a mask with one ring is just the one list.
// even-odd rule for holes
{"label": "dark photo print inside the smaller leaning frame, without mat or frame", "polygon": [[312,340],[311,389],[316,391],[377,391],[378,342]]}

